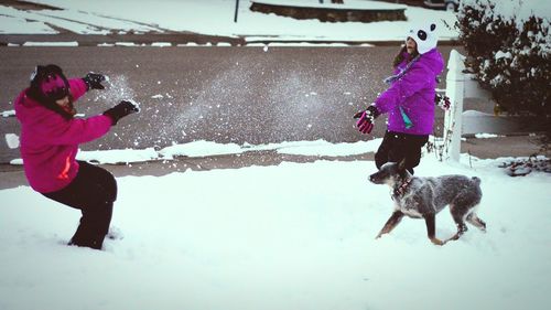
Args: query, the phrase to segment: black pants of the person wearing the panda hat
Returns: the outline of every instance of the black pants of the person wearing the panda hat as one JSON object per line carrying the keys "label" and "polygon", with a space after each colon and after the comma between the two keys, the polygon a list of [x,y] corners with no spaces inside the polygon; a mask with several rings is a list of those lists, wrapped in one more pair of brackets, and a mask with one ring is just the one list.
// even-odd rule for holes
{"label": "black pants of the person wearing the panda hat", "polygon": [[406,169],[413,174],[413,168],[421,161],[421,148],[428,141],[429,135],[418,136],[387,130],[382,143],[375,153],[375,164],[380,169],[387,162],[400,162],[406,159]]}

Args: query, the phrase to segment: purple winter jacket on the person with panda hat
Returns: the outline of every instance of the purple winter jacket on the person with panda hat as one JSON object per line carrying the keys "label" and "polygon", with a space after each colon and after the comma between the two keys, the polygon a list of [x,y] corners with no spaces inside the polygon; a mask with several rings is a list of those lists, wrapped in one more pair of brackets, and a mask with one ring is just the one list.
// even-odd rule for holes
{"label": "purple winter jacket on the person with panda hat", "polygon": [[[398,65],[395,74],[407,66],[407,58]],[[444,60],[436,49],[421,55],[406,74],[393,82],[375,100],[377,109],[388,113],[388,130],[410,135],[431,135],[434,125],[434,96],[436,76],[444,68]],[[400,107],[413,126],[406,128]]]}

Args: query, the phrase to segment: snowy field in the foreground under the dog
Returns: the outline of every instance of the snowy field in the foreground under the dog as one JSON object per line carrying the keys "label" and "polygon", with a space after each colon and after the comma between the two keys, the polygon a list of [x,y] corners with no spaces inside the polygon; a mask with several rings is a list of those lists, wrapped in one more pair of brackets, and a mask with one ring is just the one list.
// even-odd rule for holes
{"label": "snowy field in the foreground under the dog", "polygon": [[[64,245],[78,211],[2,190],[0,309],[548,309],[551,178],[503,161],[422,159],[482,179],[488,232],[444,247],[411,218],[375,239],[392,203],[371,161],[119,178],[104,252]],[[455,232],[447,210],[436,229]]]}

